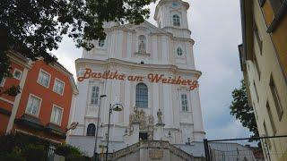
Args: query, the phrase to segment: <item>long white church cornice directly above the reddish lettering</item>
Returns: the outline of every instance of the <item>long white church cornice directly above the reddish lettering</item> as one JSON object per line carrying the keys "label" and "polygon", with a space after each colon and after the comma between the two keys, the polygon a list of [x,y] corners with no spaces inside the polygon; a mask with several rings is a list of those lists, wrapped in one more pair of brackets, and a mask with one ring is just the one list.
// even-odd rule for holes
{"label": "long white church cornice directly above the reddish lettering", "polygon": [[96,60],[96,59],[86,59],[79,58],[75,60],[75,67],[78,69],[79,64],[100,64],[100,65],[123,65],[130,68],[138,68],[138,69],[155,69],[155,70],[170,70],[172,72],[181,72],[181,73],[194,73],[196,77],[199,78],[202,75],[202,72],[191,69],[181,69],[178,68],[177,65],[173,64],[136,64],[132,62],[127,62],[124,60],[119,60],[116,58],[109,58],[106,60]]}

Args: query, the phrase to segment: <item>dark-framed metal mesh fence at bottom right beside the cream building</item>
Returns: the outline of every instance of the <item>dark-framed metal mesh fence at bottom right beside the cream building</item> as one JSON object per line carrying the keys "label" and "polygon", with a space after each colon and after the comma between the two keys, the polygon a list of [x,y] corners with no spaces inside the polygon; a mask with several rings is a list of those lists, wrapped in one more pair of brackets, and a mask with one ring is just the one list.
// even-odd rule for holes
{"label": "dark-framed metal mesh fence at bottom right beside the cream building", "polygon": [[[204,140],[207,161],[285,161],[287,135],[230,140]],[[257,146],[258,145],[258,146]]]}

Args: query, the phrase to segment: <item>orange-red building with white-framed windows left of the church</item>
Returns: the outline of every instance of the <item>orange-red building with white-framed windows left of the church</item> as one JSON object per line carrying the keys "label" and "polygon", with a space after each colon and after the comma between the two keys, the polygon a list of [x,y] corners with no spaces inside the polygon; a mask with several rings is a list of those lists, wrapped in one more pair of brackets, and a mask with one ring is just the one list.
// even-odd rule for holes
{"label": "orange-red building with white-framed windows left of the church", "polygon": [[0,96],[0,113],[4,115],[0,131],[27,133],[56,143],[65,141],[74,96],[78,94],[73,74],[58,63],[28,63],[22,58],[22,64],[17,64],[11,60],[12,70],[21,72],[21,77],[4,79],[3,88],[20,85],[22,91],[16,97]]}

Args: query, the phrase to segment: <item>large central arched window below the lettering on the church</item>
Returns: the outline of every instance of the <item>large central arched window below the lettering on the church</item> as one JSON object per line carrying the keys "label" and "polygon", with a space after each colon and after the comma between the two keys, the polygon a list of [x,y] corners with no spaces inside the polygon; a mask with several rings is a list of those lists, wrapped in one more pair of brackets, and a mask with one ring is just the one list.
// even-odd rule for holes
{"label": "large central arched window below the lettering on the church", "polygon": [[148,107],[148,89],[144,83],[138,83],[135,88],[135,106]]}

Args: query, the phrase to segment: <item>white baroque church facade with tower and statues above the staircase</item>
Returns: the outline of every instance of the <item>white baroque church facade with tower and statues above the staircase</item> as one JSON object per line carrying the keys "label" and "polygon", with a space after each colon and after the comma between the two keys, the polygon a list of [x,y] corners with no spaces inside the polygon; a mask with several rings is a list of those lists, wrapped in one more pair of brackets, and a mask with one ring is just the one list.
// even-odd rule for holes
{"label": "white baroque church facade with tower and statues above the staircase", "polygon": [[[99,123],[98,147],[109,153],[139,140],[190,144],[205,137],[187,10],[181,0],[161,0],[154,20],[139,25],[105,24],[107,38],[75,61],[79,95],[67,141],[92,156]],[[106,95],[106,97],[104,97]],[[109,106],[120,104],[123,110]],[[100,110],[99,110],[100,109]],[[100,153],[100,148],[97,148]]]}

